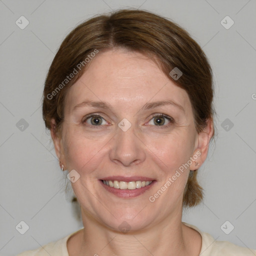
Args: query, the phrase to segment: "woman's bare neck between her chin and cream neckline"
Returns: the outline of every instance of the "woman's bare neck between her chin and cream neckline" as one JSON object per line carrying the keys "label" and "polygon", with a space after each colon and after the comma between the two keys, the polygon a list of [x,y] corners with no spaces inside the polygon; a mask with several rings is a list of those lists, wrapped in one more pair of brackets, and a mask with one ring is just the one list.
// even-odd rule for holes
{"label": "woman's bare neck between her chin and cream neckline", "polygon": [[85,215],[83,226],[73,250],[77,256],[197,256],[201,248],[200,234],[181,222],[181,214],[167,217],[143,230],[126,233],[107,228]]}

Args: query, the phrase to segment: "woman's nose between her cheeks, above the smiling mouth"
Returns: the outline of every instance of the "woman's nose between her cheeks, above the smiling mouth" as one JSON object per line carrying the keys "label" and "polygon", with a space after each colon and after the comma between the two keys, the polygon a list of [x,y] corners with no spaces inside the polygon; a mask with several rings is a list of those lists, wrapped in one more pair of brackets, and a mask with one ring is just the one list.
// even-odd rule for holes
{"label": "woman's nose between her cheeks, above the smiling mouth", "polygon": [[117,127],[112,139],[109,157],[111,161],[124,166],[137,165],[145,159],[145,148],[139,134],[135,133],[133,125],[123,131]]}

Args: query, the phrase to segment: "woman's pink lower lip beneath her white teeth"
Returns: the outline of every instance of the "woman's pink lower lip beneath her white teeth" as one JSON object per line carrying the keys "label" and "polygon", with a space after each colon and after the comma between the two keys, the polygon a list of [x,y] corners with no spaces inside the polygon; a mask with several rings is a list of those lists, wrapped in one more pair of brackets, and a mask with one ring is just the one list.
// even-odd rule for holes
{"label": "woman's pink lower lip beneath her white teeth", "polygon": [[153,180],[149,185],[147,186],[143,186],[140,188],[135,188],[135,189],[120,189],[120,188],[114,188],[108,185],[105,185],[101,180],[99,180],[99,182],[101,183],[101,185],[110,193],[115,194],[118,197],[135,197],[138,196],[142,193],[144,193],[145,191],[147,191],[148,189],[150,189],[153,184],[156,182],[156,180]]}

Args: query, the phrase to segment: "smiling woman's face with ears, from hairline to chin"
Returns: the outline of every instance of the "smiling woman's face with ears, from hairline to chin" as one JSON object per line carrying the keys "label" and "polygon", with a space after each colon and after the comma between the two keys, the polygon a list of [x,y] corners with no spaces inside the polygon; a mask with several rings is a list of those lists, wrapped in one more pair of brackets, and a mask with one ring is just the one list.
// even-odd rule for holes
{"label": "smiling woman's face with ears, from hairline to chin", "polygon": [[151,59],[117,49],[99,52],[70,87],[61,137],[52,137],[65,169],[79,176],[71,184],[83,217],[116,230],[181,214],[189,169],[208,142],[186,91]]}

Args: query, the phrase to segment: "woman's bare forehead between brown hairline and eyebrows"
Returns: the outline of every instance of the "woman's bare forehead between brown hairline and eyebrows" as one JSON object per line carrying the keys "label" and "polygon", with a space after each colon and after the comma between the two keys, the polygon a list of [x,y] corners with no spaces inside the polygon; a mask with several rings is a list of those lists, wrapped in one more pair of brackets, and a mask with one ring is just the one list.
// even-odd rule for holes
{"label": "woman's bare forehead between brown hairline and eyebrows", "polygon": [[171,99],[184,108],[191,107],[186,91],[171,81],[152,59],[120,49],[99,52],[90,60],[85,72],[69,89],[66,104],[71,109],[86,99],[118,107]]}

